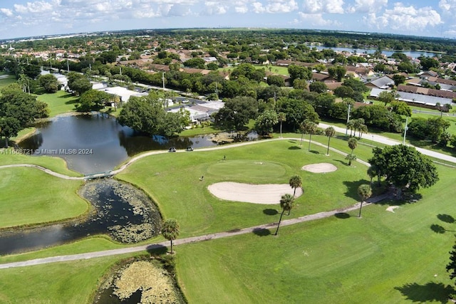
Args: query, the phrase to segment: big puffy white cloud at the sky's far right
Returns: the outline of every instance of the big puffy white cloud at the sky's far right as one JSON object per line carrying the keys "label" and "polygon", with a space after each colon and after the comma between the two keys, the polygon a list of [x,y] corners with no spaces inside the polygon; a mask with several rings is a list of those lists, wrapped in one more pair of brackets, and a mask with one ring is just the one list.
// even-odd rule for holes
{"label": "big puffy white cloud at the sky's far right", "polygon": [[404,6],[396,3],[393,9],[385,9],[381,16],[375,13],[368,14],[364,18],[368,24],[377,28],[389,26],[395,31],[423,31],[428,26],[437,26],[442,23],[440,14],[429,6],[415,8],[415,6]]}

